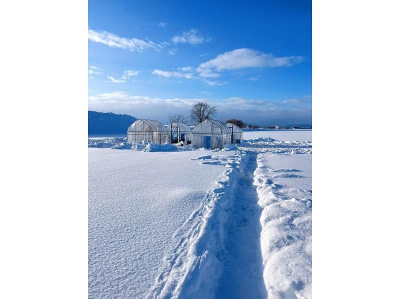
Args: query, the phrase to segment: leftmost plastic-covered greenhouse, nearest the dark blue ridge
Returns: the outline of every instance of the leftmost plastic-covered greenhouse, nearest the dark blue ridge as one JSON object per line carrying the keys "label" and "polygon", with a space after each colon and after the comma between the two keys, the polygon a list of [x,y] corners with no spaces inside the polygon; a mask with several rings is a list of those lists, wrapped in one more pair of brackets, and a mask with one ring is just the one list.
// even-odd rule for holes
{"label": "leftmost plastic-covered greenhouse, nearest the dark blue ridge", "polygon": [[128,142],[150,141],[154,143],[167,143],[168,131],[162,123],[152,119],[136,119],[128,127]]}

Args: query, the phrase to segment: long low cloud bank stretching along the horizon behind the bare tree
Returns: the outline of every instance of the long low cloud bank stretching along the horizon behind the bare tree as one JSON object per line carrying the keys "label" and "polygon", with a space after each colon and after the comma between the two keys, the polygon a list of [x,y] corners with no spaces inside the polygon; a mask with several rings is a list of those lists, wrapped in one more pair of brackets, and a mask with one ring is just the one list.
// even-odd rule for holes
{"label": "long low cloud bank stretching along the horizon behind the bare tree", "polygon": [[198,101],[216,106],[218,109],[217,119],[235,117],[259,125],[311,122],[311,99],[298,101],[294,98],[268,101],[242,97],[222,99],[158,98],[115,91],[89,96],[88,106],[90,110],[127,113],[135,117],[153,118],[165,122],[170,113],[187,115],[191,105]]}

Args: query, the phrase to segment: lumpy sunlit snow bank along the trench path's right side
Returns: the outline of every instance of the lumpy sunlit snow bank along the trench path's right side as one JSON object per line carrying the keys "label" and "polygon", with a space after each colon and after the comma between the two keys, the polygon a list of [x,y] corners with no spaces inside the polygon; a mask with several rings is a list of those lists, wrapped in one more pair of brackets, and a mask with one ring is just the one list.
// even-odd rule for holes
{"label": "lumpy sunlit snow bank along the trench path's right side", "polygon": [[260,153],[254,171],[268,298],[311,298],[311,190],[292,187],[299,175],[285,172],[298,170],[271,169],[270,157]]}

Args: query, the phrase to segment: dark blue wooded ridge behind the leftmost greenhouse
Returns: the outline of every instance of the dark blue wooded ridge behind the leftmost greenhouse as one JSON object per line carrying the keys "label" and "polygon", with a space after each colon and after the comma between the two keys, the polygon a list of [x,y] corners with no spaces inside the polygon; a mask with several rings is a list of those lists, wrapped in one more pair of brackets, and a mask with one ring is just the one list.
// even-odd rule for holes
{"label": "dark blue wooded ridge behind the leftmost greenhouse", "polygon": [[126,134],[126,130],[136,118],[128,114],[87,111],[88,134]]}

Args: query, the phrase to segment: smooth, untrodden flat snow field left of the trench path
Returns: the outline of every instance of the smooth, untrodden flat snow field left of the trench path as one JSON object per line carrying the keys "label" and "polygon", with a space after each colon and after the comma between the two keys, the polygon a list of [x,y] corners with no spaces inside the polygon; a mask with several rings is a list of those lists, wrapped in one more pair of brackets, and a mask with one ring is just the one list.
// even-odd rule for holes
{"label": "smooth, untrodden flat snow field left of the trench path", "polygon": [[201,153],[88,148],[89,297],[143,297],[150,289],[163,252],[180,240],[174,232],[230,168],[218,161],[228,163],[231,152],[196,159]]}

